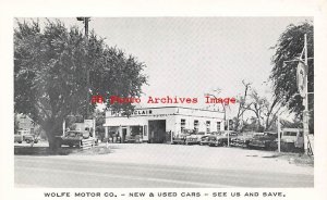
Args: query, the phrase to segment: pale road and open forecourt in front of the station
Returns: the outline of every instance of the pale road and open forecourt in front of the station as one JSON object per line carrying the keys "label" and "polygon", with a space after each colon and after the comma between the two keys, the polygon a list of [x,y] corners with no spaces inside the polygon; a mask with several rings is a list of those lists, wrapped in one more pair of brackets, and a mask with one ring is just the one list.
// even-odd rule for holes
{"label": "pale road and open forecourt in front of the station", "polygon": [[[254,157],[254,154],[258,154],[257,151],[219,150],[219,148],[210,149],[209,147],[199,146],[122,145],[120,147],[112,153],[99,157],[15,155],[15,186],[55,188],[293,188],[314,186],[313,167],[303,168],[279,161],[278,165],[284,170],[270,170],[275,168],[277,161]],[[162,160],[161,153],[165,151],[167,153],[169,150],[177,152],[179,155],[175,155],[175,158],[166,155],[166,160]],[[231,157],[225,159],[223,162],[221,162],[222,160],[207,163],[197,162],[195,158],[198,158],[198,155],[194,157],[194,153],[190,153],[190,150],[194,153],[198,153],[198,151],[221,151],[225,157],[226,152],[230,152],[231,155],[242,152],[243,160],[239,161],[241,157]],[[134,153],[134,157],[131,157],[131,152]],[[189,154],[185,152],[189,152]],[[184,153],[184,155],[180,153]],[[253,157],[245,157],[244,153]],[[156,157],[154,157],[155,154]],[[215,155],[218,154],[215,153]],[[158,159],[158,157],[161,159]],[[185,160],[181,160],[181,157],[193,159],[193,161],[186,164]],[[240,162],[243,163],[243,166]],[[264,167],[269,162],[272,166]],[[257,163],[264,165],[259,167]]]}

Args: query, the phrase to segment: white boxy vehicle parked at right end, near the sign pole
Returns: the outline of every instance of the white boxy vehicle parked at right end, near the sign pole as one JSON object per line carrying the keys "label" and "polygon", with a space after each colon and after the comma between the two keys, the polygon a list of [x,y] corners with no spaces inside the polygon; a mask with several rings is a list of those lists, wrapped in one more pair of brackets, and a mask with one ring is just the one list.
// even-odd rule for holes
{"label": "white boxy vehicle parked at right end, near the sign pole", "polygon": [[303,130],[283,128],[281,130],[280,147],[283,151],[301,151],[304,148]]}

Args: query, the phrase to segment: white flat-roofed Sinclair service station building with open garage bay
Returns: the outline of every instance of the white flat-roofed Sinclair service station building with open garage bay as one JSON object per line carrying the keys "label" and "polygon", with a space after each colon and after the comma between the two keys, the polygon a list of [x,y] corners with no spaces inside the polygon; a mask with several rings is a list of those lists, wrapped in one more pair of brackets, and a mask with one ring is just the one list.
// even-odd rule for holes
{"label": "white flat-roofed Sinclair service station building with open garage bay", "polygon": [[223,113],[182,107],[135,109],[128,117],[113,111],[106,112],[106,137],[116,135],[125,141],[138,136],[143,141],[162,143],[172,135],[185,132],[211,133],[223,130]]}

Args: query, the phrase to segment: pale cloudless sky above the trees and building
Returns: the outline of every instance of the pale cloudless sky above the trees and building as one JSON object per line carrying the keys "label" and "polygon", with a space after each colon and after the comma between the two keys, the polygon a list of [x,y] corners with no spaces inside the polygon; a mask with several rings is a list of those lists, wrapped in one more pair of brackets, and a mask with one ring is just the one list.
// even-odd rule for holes
{"label": "pale cloudless sky above the trees and building", "polygon": [[[66,26],[84,26],[76,18],[60,20]],[[92,17],[89,29],[106,38],[108,46],[145,63],[148,85],[143,87],[143,107],[148,107],[149,96],[177,96],[198,98],[196,104],[178,105],[214,109],[204,103],[204,95],[237,98],[244,92],[243,79],[261,96],[271,98],[267,83],[272,68],[270,47],[289,24],[305,21],[312,18]],[[219,95],[214,91],[217,88]],[[237,105],[231,107],[234,112]]]}

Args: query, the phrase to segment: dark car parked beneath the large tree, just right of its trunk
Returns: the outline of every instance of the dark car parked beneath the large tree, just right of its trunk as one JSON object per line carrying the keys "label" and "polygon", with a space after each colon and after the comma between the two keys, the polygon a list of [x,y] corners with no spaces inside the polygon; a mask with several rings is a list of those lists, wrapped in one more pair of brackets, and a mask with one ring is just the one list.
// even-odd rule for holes
{"label": "dark car parked beneath the large tree, just right of its trunk", "polygon": [[81,148],[82,140],[87,138],[89,138],[89,132],[87,130],[69,130],[64,133],[64,136],[60,137],[59,146],[75,146],[77,148]]}

